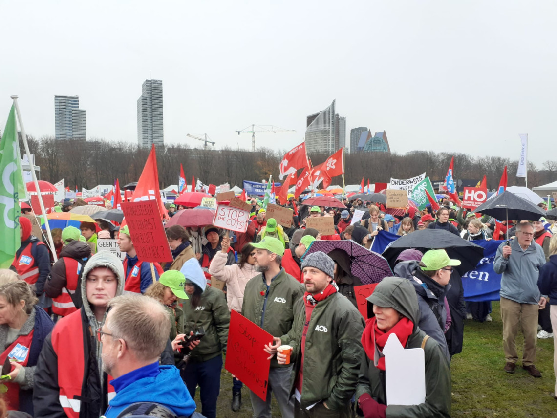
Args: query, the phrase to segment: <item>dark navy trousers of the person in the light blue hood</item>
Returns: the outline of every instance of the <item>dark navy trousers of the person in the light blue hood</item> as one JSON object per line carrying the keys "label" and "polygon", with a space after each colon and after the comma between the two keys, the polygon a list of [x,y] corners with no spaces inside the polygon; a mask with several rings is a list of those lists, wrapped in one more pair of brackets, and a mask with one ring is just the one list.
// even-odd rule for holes
{"label": "dark navy trousers of the person in the light blue hood", "polygon": [[203,362],[188,363],[185,371],[181,371],[182,379],[187,386],[192,399],[196,396],[196,386],[199,385],[201,398],[201,414],[207,418],[217,416],[217,398],[221,390],[222,355]]}

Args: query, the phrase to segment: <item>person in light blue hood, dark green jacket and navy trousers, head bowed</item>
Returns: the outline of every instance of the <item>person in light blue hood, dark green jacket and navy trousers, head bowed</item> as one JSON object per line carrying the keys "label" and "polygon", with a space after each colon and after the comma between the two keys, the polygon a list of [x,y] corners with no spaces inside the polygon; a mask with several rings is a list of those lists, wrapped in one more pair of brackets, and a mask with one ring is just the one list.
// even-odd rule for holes
{"label": "person in light blue hood, dark green jacket and navy trousers, head bowed", "polygon": [[180,273],[185,278],[185,295],[184,290],[173,291],[178,298],[187,299],[182,303],[184,332],[205,334],[199,345],[189,353],[189,362],[180,374],[192,398],[196,396],[196,388],[199,386],[201,413],[207,418],[215,418],[230,312],[224,293],[207,284],[196,259],[186,261]]}

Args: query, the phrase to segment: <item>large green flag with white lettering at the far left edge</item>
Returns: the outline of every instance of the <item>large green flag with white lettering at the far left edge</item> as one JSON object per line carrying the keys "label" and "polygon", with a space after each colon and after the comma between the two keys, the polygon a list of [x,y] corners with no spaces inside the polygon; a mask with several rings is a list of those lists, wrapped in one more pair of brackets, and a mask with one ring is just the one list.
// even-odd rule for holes
{"label": "large green flag with white lettering at the far left edge", "polygon": [[19,238],[19,197],[25,184],[17,152],[16,110],[12,105],[0,142],[0,268],[7,269],[21,245]]}

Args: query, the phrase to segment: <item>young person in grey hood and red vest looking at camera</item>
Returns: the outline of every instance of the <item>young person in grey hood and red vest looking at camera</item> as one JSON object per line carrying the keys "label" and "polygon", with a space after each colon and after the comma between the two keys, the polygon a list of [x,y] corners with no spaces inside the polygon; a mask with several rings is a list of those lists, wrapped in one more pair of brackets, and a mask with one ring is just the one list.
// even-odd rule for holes
{"label": "young person in grey hood and red vest looking at camera", "polygon": [[83,270],[83,306],[61,318],[43,344],[35,371],[35,418],[98,418],[114,397],[102,371],[102,342],[95,331],[108,303],[124,290],[124,268],[116,255],[97,252]]}

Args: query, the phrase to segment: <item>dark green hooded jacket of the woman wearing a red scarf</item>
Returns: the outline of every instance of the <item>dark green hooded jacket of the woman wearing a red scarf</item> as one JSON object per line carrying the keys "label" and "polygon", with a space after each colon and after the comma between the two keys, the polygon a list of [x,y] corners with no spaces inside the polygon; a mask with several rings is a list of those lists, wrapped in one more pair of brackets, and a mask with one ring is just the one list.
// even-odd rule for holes
{"label": "dark green hooded jacket of the woman wearing a red scarf", "polygon": [[[374,295],[380,297],[385,307],[394,308],[414,323],[412,334],[404,348],[422,346],[426,333],[418,326],[420,309],[416,291],[407,279],[389,278],[389,284],[375,288]],[[368,315],[373,314],[373,304],[368,302]],[[439,418],[451,416],[451,370],[446,356],[437,341],[429,338],[424,346],[426,363],[426,401],[419,405],[389,405],[386,415],[400,418]],[[369,393],[380,404],[387,405],[385,372],[374,366],[373,359],[363,354],[356,387],[356,400]]]}

